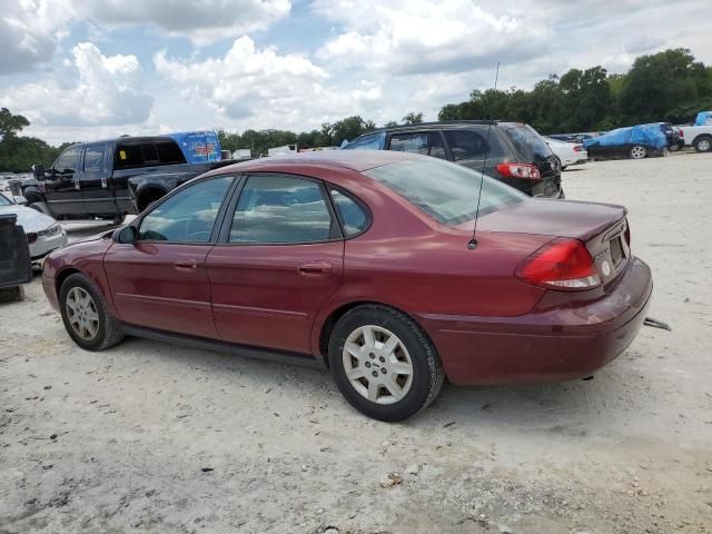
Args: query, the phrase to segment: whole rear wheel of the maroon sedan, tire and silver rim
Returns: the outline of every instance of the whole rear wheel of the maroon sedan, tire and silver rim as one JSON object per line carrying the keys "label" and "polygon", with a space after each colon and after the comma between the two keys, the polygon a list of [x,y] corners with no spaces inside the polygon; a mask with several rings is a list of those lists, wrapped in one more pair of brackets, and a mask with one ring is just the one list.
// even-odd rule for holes
{"label": "whole rear wheel of the maroon sedan, tire and silver rim", "polygon": [[379,305],[344,315],[329,339],[329,367],[356,409],[402,421],[435,399],[445,377],[433,342],[407,315]]}

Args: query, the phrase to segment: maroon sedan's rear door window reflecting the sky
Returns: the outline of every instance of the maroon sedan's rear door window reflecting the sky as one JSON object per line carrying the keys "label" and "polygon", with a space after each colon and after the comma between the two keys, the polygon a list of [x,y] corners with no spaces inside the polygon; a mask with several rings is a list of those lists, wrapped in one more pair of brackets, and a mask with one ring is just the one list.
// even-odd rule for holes
{"label": "maroon sedan's rear door window reflecting the sky", "polygon": [[314,243],[335,226],[318,182],[284,175],[253,175],[235,209],[230,243]]}

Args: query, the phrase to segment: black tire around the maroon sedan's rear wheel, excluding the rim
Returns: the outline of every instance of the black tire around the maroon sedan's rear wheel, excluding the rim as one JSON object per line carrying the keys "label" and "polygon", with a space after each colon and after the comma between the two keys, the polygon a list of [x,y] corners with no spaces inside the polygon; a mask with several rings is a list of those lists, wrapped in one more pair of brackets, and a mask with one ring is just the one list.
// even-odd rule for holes
{"label": "black tire around the maroon sedan's rear wheel, excluding the rim", "polygon": [[[366,325],[375,325],[395,334],[408,352],[413,367],[412,384],[405,396],[394,404],[369,400],[356,390],[346,376],[344,345],[352,333]],[[358,306],[338,320],[329,338],[328,360],[336,386],[346,400],[360,413],[386,422],[406,419],[428,406],[445,379],[443,364],[425,332],[404,313],[380,305]]]}

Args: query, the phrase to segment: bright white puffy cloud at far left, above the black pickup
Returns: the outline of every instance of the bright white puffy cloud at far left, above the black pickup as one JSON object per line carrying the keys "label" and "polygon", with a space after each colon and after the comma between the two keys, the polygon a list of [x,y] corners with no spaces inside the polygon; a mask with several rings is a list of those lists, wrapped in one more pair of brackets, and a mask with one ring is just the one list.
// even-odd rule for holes
{"label": "bright white puffy cloud at far left, above the black pickup", "polygon": [[73,47],[71,55],[69,66],[11,88],[0,96],[0,103],[36,126],[130,125],[148,118],[152,97],[142,90],[136,56],[103,56],[89,42]]}

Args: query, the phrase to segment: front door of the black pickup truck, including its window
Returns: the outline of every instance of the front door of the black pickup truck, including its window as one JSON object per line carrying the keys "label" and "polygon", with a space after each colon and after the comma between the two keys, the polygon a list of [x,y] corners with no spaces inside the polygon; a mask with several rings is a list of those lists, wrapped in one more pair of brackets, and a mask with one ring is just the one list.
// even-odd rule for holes
{"label": "front door of the black pickup truck, including its window", "polygon": [[79,145],[69,147],[57,158],[49,176],[42,182],[47,205],[53,215],[85,215],[81,187],[77,176],[80,156]]}

